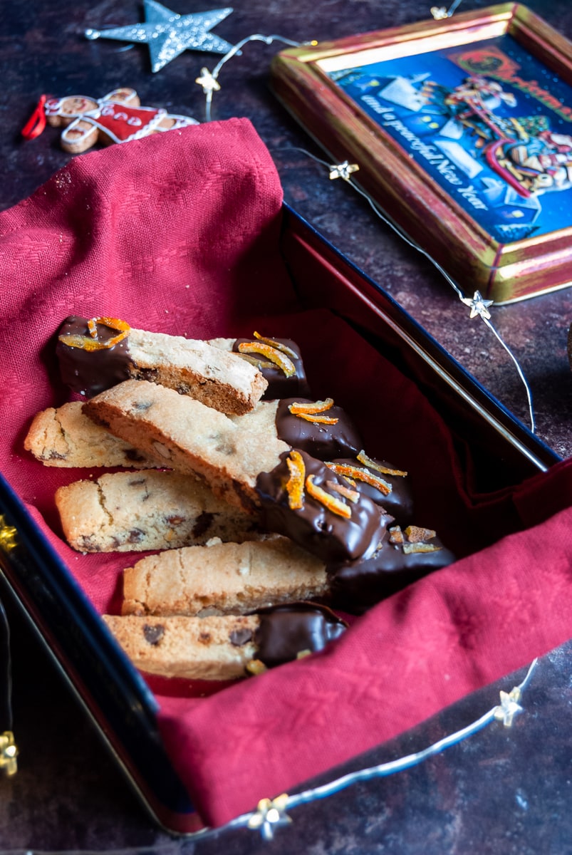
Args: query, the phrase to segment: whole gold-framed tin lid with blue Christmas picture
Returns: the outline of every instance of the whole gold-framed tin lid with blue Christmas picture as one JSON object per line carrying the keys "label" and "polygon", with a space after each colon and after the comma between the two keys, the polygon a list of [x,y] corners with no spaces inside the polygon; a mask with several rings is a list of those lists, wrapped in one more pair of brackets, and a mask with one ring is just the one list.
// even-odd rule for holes
{"label": "whole gold-framed tin lid with blue Christmas picture", "polygon": [[519,3],[289,48],[274,92],[463,291],[572,284],[572,44]]}

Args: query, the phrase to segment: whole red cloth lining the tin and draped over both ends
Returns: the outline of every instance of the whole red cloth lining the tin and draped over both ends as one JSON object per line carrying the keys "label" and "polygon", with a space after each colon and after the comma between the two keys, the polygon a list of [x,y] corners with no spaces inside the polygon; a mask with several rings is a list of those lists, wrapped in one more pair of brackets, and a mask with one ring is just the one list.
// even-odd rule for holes
{"label": "whole red cloth lining the tin and draped over both ends", "polygon": [[280,211],[268,150],[231,120],[76,157],[0,215],[0,467],[98,611],[118,609],[121,569],[141,553],[71,550],[53,494],[89,474],[42,467],[22,445],[32,416],[69,398],[54,356],[68,314],[190,338],[296,339],[315,397],[355,417],[371,456],[410,471],[417,524],[463,557],[327,652],[208,698],[157,692],[165,745],[209,824],[410,728],[572,628],[572,461],[475,494],[470,448],[467,464],[446,413],[327,306],[298,300]]}

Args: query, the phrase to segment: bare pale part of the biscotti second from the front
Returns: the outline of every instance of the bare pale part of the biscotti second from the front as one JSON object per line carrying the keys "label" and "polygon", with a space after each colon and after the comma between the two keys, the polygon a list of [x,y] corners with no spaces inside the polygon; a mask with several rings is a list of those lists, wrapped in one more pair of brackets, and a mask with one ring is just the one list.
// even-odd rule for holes
{"label": "bare pale part of the biscotti second from the front", "polygon": [[124,615],[247,614],[327,594],[324,564],[286,538],[186,546],[123,572]]}

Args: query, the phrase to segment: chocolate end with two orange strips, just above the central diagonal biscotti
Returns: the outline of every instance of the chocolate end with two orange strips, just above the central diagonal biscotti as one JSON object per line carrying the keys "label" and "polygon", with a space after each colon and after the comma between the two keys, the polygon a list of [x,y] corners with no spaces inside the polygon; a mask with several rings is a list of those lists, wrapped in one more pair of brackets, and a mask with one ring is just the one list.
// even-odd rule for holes
{"label": "chocolate end with two orange strips, just above the central diagonal biscotti", "polygon": [[332,460],[334,457],[355,456],[363,449],[363,440],[350,416],[333,404],[329,410],[318,413],[338,421],[335,424],[309,422],[300,416],[293,416],[291,404],[312,404],[309,398],[284,398],[276,410],[276,433],[279,439],[306,451],[318,460]]}

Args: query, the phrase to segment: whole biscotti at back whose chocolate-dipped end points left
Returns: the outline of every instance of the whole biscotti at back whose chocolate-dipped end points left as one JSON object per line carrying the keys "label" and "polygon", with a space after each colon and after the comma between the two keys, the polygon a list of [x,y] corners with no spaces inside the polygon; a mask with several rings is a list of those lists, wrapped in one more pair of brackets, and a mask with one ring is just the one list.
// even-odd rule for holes
{"label": "whole biscotti at back whose chocolate-dipped end points left", "polygon": [[150,380],[224,413],[248,412],[267,387],[256,365],[204,341],[129,327],[115,318],[63,322],[56,345],[62,380],[91,398],[122,380]]}

